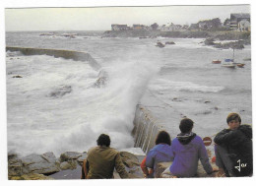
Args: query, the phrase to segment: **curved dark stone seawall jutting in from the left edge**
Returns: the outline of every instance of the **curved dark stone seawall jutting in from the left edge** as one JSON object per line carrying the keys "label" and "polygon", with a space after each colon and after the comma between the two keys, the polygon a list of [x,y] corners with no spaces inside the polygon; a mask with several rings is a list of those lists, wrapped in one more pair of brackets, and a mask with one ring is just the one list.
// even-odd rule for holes
{"label": "curved dark stone seawall jutting in from the left edge", "polygon": [[86,52],[62,50],[62,49],[46,49],[46,48],[28,48],[28,47],[16,47],[6,46],[6,51],[20,51],[24,55],[50,55],[53,57],[62,57],[64,59],[73,59],[74,61],[88,61],[90,65],[98,71],[101,66],[96,60]]}

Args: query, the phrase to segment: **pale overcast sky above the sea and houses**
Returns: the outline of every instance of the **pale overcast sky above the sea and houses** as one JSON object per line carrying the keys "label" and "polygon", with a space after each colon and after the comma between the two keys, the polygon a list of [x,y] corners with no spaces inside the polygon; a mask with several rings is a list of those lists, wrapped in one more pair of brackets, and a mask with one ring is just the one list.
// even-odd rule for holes
{"label": "pale overcast sky above the sea and houses", "polygon": [[250,13],[250,5],[16,8],[5,9],[6,31],[107,31],[111,24],[193,24],[230,13]]}

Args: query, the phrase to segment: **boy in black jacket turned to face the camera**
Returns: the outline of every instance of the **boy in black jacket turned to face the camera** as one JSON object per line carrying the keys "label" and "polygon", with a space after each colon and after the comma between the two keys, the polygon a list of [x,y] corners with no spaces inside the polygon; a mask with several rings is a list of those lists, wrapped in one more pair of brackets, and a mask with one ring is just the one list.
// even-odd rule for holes
{"label": "boy in black jacket turned to face the camera", "polygon": [[252,175],[252,128],[241,125],[237,113],[229,113],[226,118],[227,129],[214,139],[216,164],[219,177],[240,177]]}

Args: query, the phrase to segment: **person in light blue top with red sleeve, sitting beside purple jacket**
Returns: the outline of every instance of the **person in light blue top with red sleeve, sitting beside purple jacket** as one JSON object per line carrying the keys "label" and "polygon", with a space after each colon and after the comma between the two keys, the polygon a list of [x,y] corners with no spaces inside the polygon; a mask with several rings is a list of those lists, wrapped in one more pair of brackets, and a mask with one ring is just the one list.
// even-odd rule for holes
{"label": "person in light blue top with red sleeve, sitting beside purple jacket", "polygon": [[[154,172],[159,162],[167,162],[171,160],[170,137],[165,131],[160,131],[156,139],[156,146],[148,153],[141,163],[141,168],[145,177],[159,177]],[[151,168],[150,171],[148,168]]]}

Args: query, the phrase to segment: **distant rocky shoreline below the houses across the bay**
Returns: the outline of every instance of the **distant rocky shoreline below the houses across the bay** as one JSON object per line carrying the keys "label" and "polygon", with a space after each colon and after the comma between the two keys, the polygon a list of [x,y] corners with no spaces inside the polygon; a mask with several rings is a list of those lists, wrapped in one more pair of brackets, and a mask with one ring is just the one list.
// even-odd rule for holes
{"label": "distant rocky shoreline below the houses across the bay", "polygon": [[[216,48],[242,49],[244,45],[251,44],[250,31],[105,31],[102,37],[139,37],[139,38],[206,38],[205,45]],[[232,40],[229,42],[218,42]],[[216,42],[215,42],[216,41]]]}

